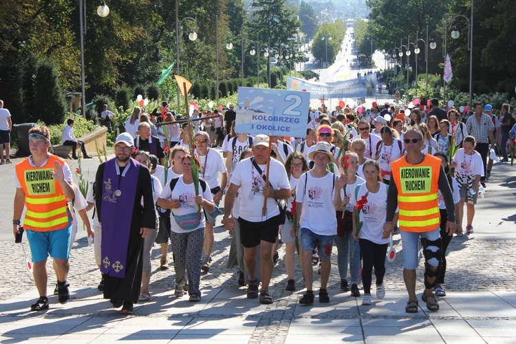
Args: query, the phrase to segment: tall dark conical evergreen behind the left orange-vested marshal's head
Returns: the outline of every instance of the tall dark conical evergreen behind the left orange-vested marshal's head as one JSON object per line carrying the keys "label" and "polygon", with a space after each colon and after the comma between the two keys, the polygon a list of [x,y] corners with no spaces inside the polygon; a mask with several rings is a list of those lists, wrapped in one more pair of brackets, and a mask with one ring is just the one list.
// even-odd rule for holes
{"label": "tall dark conical evergreen behind the left orange-vested marshal's head", "polygon": [[56,66],[49,59],[39,61],[34,78],[34,98],[38,100],[36,118],[47,125],[63,122],[66,114],[65,96],[58,83]]}

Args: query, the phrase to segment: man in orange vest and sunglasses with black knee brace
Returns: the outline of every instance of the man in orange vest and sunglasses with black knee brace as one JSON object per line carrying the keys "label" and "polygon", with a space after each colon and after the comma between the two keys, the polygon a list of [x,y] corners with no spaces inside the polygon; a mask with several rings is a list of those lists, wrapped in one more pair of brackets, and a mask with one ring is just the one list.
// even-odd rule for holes
{"label": "man in orange vest and sunglasses with black knee brace", "polygon": [[383,238],[394,232],[392,219],[399,207],[399,226],[403,246],[403,280],[409,293],[407,313],[418,312],[416,297],[416,268],[418,268],[418,241],[421,240],[424,255],[424,292],[422,301],[431,312],[439,310],[432,288],[436,286],[442,265],[442,237],[438,189],[442,193],[448,212],[446,229],[453,235],[455,204],[446,173],[440,158],[422,153],[423,135],[416,127],[410,127],[405,136],[407,155],[391,163],[391,182],[387,193],[387,215],[383,226]]}

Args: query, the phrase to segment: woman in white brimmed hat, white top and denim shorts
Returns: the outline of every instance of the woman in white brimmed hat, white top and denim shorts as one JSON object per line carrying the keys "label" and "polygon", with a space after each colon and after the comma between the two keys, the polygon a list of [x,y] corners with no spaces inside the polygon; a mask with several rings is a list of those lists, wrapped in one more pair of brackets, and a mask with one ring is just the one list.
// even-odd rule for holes
{"label": "woman in white brimmed hat, white top and denim shorts", "polygon": [[[303,275],[306,283],[306,293],[299,303],[310,305],[314,303],[312,290],[312,252],[317,248],[321,259],[321,290],[319,301],[330,302],[326,285],[330,277],[332,242],[337,234],[336,211],[342,207],[341,189],[347,181],[343,173],[339,178],[327,171],[327,164],[335,161],[330,144],[318,142],[308,158],[315,162],[314,168],[303,173],[296,188],[297,228],[292,228],[292,236],[301,235],[303,248]],[[301,229],[302,228],[302,229]],[[301,230],[301,233],[299,233]]]}

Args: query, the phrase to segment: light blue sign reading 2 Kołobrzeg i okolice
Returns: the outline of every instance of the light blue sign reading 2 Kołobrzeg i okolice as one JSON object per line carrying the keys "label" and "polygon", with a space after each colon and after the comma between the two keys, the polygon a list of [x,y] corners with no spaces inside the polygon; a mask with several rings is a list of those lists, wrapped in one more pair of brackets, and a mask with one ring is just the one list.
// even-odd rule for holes
{"label": "light blue sign reading 2 Ko\u0142obrzeg i okolice", "polygon": [[308,92],[238,87],[235,131],[304,138],[309,107]]}

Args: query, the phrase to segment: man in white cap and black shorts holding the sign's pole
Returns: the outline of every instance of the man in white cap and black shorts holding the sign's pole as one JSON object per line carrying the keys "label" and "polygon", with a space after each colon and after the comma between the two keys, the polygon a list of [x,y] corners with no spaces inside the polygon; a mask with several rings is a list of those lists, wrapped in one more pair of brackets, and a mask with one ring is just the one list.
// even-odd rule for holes
{"label": "man in white cap and black shorts holding the sign's pole", "polygon": [[[235,228],[235,219],[231,216],[237,192],[241,193],[238,222],[240,224],[240,241],[244,246],[244,263],[249,275],[247,297],[258,297],[258,280],[255,275],[256,251],[260,245],[261,257],[261,291],[260,303],[272,303],[269,294],[272,276],[272,245],[275,244],[281,223],[278,200],[286,200],[291,195],[287,172],[281,162],[270,159],[269,171],[266,171],[269,137],[257,135],[252,142],[252,158],[241,160],[235,166],[230,186],[224,201],[224,227]],[[267,174],[266,174],[267,173]],[[265,215],[262,212],[266,198]]]}

